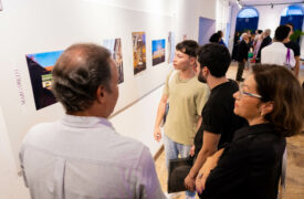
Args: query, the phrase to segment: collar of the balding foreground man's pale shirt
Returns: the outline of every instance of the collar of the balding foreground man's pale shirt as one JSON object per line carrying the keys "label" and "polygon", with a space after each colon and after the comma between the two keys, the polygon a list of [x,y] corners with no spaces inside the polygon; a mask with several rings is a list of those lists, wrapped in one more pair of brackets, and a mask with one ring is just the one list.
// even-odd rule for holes
{"label": "collar of the balding foreground man's pale shirt", "polygon": [[61,123],[64,125],[86,128],[86,127],[98,127],[98,126],[107,126],[114,129],[111,122],[108,122],[104,117],[94,117],[94,116],[75,116],[75,115],[64,115],[61,119]]}

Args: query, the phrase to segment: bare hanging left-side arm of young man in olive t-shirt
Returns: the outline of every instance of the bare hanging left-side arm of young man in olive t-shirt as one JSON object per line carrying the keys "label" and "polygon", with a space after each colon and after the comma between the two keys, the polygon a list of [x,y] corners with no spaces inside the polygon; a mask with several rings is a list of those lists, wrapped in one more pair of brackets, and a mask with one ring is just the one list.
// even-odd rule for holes
{"label": "bare hanging left-side arm of young man in olive t-shirt", "polygon": [[161,139],[161,130],[160,130],[159,125],[160,125],[161,119],[165,115],[167,100],[168,100],[168,96],[164,94],[161,96],[161,100],[160,100],[158,108],[157,108],[157,115],[156,115],[156,121],[155,121],[155,126],[154,126],[154,139],[157,142],[159,142]]}

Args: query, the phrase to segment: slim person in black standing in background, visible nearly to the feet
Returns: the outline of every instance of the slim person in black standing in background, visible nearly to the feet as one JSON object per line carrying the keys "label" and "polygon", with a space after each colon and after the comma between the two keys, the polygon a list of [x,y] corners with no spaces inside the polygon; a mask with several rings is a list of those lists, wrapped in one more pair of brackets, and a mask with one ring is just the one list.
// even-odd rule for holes
{"label": "slim person in black standing in background, visible nearly to the feet", "polygon": [[248,33],[243,33],[242,41],[239,43],[239,49],[238,49],[239,65],[238,65],[238,72],[235,77],[238,82],[243,81],[242,75],[243,75],[244,66],[248,61],[248,52],[249,52],[249,35]]}

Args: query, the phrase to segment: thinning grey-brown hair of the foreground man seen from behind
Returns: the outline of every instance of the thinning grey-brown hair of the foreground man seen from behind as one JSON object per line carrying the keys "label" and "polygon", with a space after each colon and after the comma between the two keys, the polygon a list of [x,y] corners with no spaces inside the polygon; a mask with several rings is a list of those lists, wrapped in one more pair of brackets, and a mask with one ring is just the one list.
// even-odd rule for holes
{"label": "thinning grey-brown hair of the foreground man seen from behind", "polygon": [[52,72],[52,92],[66,113],[91,107],[99,85],[111,92],[109,57],[108,50],[90,43],[71,45],[62,53]]}

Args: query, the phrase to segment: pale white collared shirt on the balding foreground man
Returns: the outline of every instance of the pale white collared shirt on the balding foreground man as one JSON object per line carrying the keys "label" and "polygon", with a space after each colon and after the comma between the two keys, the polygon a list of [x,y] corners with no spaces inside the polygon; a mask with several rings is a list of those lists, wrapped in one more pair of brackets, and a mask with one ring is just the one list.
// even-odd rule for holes
{"label": "pale white collared shirt on the balding foreground man", "polygon": [[105,118],[35,125],[20,161],[33,199],[165,198],[149,149]]}

